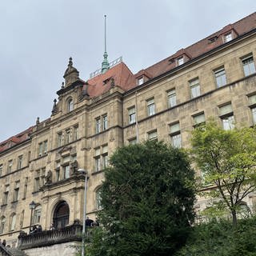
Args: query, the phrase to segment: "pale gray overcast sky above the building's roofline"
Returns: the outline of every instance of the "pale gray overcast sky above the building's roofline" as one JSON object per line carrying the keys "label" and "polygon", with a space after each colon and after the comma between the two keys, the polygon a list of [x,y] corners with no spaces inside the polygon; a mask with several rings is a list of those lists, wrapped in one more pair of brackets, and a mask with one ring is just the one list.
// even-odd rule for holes
{"label": "pale gray overcast sky above the building's roofline", "polygon": [[109,61],[134,73],[238,21],[255,0],[0,1],[0,142],[50,117],[68,58],[84,80]]}

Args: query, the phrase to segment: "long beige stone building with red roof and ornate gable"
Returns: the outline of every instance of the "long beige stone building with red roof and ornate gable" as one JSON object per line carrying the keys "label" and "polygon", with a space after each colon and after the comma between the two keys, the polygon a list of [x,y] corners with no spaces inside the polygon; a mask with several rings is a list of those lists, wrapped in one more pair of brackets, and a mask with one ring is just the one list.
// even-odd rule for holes
{"label": "long beige stone building with red roof and ornate gable", "polygon": [[226,130],[253,126],[255,56],[253,13],[137,74],[105,53],[102,69],[85,82],[70,58],[50,118],[0,143],[0,238],[16,246],[30,221],[43,230],[82,221],[80,168],[88,170],[86,210],[94,219],[104,168],[118,146],[158,139],[189,147],[190,131],[210,117]]}

